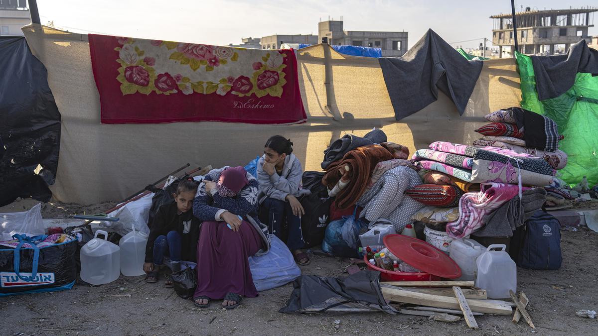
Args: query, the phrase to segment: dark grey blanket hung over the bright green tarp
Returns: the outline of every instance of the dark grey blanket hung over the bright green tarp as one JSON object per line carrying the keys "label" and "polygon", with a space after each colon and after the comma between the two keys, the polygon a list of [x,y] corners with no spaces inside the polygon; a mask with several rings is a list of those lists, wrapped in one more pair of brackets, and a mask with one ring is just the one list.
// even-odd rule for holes
{"label": "dark grey blanket hung over the bright green tarp", "polygon": [[550,99],[565,93],[575,83],[578,72],[598,74],[598,50],[588,47],[585,39],[571,45],[569,54],[532,56],[538,99]]}

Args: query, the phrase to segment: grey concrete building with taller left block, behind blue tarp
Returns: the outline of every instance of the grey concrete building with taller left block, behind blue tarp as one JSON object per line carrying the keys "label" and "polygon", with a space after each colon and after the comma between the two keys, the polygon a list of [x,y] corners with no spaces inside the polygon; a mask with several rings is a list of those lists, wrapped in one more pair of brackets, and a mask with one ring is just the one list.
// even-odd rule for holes
{"label": "grey concrete building with taller left block, behind blue tarp", "polygon": [[382,56],[402,56],[407,52],[407,32],[365,32],[343,30],[343,20],[318,23],[318,41],[329,44],[381,48]]}

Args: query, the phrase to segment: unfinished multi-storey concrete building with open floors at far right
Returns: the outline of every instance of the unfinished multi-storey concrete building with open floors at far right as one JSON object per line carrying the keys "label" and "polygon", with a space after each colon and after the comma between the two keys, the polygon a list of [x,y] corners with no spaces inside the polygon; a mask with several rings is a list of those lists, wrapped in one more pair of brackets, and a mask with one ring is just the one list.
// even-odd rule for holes
{"label": "unfinished multi-storey concrete building with open floors at far right", "polygon": [[[490,16],[494,19],[492,30],[492,43],[500,48],[503,54],[504,47],[515,50],[515,38],[519,51],[524,54],[566,53],[569,46],[581,39],[588,44],[588,28],[593,27],[593,14],[598,11],[596,7],[568,9],[568,10],[531,10],[515,13],[517,20],[517,35],[513,36],[511,14],[498,14]],[[512,56],[512,53],[509,53]]]}

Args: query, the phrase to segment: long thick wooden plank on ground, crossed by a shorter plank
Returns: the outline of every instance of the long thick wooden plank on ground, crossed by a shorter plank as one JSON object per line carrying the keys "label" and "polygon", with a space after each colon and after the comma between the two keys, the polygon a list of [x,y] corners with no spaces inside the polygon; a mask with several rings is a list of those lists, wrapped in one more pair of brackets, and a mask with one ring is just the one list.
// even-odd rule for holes
{"label": "long thick wooden plank on ground, crossed by a shorter plank", "polygon": [[[456,298],[443,297],[441,295],[432,295],[418,292],[405,291],[402,289],[390,288],[384,286],[382,295],[386,300],[417,304],[419,306],[431,306],[438,308],[460,309]],[[466,299],[471,311],[487,314],[511,315],[513,310],[508,304],[499,304],[495,302],[486,302],[487,300]],[[499,301],[500,302],[500,301]]]}

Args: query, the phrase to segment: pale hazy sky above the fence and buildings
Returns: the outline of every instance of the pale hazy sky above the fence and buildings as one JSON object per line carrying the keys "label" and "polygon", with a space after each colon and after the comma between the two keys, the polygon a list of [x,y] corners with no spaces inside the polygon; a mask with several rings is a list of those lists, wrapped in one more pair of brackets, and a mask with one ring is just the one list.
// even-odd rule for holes
{"label": "pale hazy sky above the fence and buildings", "polygon": [[[532,9],[579,8],[596,0],[515,1]],[[214,45],[239,44],[243,37],[318,35],[318,22],[343,16],[344,30],[409,32],[409,47],[431,28],[447,42],[492,38],[490,15],[510,13],[511,1],[454,0],[38,0],[42,24],[72,32],[167,39]],[[594,13],[598,24],[598,13]],[[598,35],[590,28],[589,35]],[[458,43],[475,47],[480,41]],[[491,43],[490,43],[491,44]],[[490,45],[489,44],[489,45]]]}

